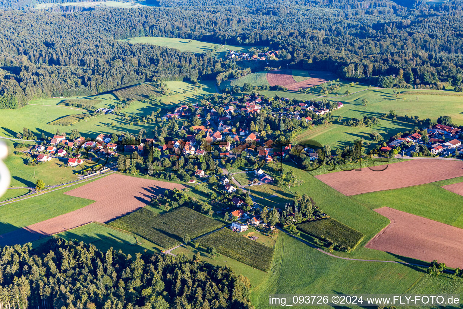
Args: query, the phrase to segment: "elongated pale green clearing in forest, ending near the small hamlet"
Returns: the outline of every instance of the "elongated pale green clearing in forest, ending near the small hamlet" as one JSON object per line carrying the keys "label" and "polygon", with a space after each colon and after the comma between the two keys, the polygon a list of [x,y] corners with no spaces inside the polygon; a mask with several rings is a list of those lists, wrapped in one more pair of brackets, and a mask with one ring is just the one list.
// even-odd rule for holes
{"label": "elongated pale green clearing in forest, ending near the small hamlet", "polygon": [[216,43],[202,42],[202,41],[190,40],[186,38],[138,37],[138,38],[128,38],[128,39],[124,39],[121,41],[127,41],[129,43],[153,44],[153,45],[158,45],[158,46],[166,46],[170,48],[176,48],[182,51],[191,51],[197,54],[202,54],[202,53],[205,53],[206,51],[210,51],[216,57],[223,57],[228,52],[228,50],[234,50],[234,51],[248,50],[248,48],[244,46],[220,45]]}

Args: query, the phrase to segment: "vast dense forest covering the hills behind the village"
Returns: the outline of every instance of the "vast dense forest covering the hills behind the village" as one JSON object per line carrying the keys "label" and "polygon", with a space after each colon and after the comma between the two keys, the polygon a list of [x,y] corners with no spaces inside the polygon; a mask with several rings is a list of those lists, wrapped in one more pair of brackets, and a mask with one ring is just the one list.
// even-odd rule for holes
{"label": "vast dense forest covering the hills behind the village", "polygon": [[[1,2],[3,6],[9,1]],[[14,2],[14,1],[13,1]],[[193,38],[284,50],[277,66],[330,69],[382,87],[438,88],[463,79],[463,1],[162,0],[158,7],[0,11],[0,107],[38,96],[90,95],[147,80],[215,78],[237,62],[117,39]],[[289,5],[290,4],[290,5]],[[11,6],[17,8],[16,6]]]}

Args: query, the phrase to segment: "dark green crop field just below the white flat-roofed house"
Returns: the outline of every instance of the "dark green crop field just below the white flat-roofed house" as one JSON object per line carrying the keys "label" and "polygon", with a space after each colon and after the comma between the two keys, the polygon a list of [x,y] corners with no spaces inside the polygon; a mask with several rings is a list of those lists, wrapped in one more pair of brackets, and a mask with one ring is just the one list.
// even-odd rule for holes
{"label": "dark green crop field just below the white flat-roofed house", "polygon": [[202,246],[214,247],[217,252],[261,271],[270,271],[274,249],[243,237],[241,234],[223,228],[203,236]]}

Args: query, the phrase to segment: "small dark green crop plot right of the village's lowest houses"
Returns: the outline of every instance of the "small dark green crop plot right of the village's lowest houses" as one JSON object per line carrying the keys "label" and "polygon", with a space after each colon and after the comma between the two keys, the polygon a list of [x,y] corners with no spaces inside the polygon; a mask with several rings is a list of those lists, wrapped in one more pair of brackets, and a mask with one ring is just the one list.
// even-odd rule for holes
{"label": "small dark green crop plot right of the village's lowest houses", "polygon": [[300,223],[297,228],[317,238],[324,236],[338,243],[338,246],[350,247],[351,249],[355,249],[365,237],[359,231],[332,218]]}

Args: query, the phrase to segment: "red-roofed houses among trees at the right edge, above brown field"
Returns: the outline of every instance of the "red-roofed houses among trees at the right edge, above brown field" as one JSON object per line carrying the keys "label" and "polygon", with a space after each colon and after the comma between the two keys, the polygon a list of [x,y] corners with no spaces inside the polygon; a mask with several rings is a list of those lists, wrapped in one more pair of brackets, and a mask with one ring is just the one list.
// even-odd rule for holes
{"label": "red-roofed houses among trees at the right edge, above brown field", "polygon": [[[451,126],[435,125],[432,129],[425,129],[429,138],[426,147],[433,155],[438,155],[443,152],[452,153],[456,155],[463,154],[462,142],[456,137],[460,133],[460,129]],[[380,151],[391,151],[397,147],[403,148],[404,146],[414,145],[421,142],[422,135],[418,132],[410,134],[406,137],[394,139],[389,142],[387,146],[381,147]],[[445,139],[450,139],[445,141]],[[424,144],[424,143],[423,143]]]}

